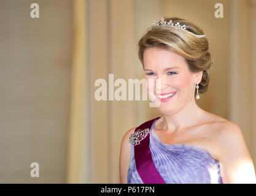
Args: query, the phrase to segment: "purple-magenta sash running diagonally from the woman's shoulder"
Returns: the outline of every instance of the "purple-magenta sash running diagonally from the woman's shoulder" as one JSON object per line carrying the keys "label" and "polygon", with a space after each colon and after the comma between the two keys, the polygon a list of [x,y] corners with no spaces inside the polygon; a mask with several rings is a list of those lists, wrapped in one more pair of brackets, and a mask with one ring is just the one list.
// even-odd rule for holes
{"label": "purple-magenta sash running diagonally from the woman's shoulder", "polygon": [[[158,118],[160,117],[155,119]],[[141,132],[141,130],[145,129],[150,130],[155,119],[141,124],[141,126],[135,129],[134,133]],[[140,140],[139,144],[134,146],[134,157],[137,171],[144,184],[166,184],[153,164],[153,159],[149,148],[149,137],[150,135],[147,133],[144,139]]]}

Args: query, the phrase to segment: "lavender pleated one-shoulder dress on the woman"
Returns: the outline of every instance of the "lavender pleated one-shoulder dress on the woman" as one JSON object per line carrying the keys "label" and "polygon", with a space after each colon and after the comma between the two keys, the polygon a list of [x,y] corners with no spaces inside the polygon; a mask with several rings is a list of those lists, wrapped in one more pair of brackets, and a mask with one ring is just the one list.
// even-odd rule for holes
{"label": "lavender pleated one-shoulder dress on the woman", "polygon": [[[193,145],[162,143],[154,132],[155,121],[150,129],[149,146],[153,163],[166,183],[222,184],[220,164],[217,160],[204,149]],[[136,169],[133,145],[131,145],[127,183],[143,184]]]}

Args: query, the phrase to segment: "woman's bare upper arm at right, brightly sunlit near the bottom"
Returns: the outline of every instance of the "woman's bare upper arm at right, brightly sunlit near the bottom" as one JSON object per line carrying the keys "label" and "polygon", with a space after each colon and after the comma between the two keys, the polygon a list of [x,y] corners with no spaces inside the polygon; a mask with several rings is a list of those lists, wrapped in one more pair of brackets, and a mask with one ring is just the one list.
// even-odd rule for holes
{"label": "woman's bare upper arm at right, brightly sunlit near the bottom", "polygon": [[241,128],[225,121],[219,126],[217,144],[223,183],[255,183],[255,170]]}

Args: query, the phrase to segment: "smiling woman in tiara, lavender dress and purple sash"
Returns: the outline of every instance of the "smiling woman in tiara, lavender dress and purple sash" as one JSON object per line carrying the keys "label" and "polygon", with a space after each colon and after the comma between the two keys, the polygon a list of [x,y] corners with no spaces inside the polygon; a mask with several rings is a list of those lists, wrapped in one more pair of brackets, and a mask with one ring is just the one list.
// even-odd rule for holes
{"label": "smiling woman in tiara, lavender dress and purple sash", "polygon": [[196,105],[212,64],[203,31],[181,18],[161,18],[139,40],[139,59],[163,116],[126,132],[120,182],[255,183],[241,129]]}

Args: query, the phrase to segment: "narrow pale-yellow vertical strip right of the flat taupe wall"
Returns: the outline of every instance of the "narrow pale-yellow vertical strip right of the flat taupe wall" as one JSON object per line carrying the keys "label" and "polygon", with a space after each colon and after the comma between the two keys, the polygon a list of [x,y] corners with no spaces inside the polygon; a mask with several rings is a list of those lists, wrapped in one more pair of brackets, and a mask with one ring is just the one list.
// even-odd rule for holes
{"label": "narrow pale-yellow vertical strip right of the flat taupe wall", "polygon": [[71,110],[68,134],[67,183],[90,183],[90,93],[87,64],[87,2],[74,0]]}

